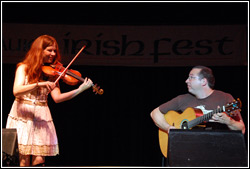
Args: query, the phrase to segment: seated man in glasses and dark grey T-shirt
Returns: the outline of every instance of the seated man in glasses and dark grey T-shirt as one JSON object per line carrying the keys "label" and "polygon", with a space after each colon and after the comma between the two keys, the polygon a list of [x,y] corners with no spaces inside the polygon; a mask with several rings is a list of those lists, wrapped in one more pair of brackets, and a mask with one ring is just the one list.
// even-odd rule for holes
{"label": "seated man in glasses and dark grey T-shirt", "polygon": [[[189,108],[186,111],[190,112],[190,108],[198,108],[203,114],[215,109],[221,110],[213,113],[211,118],[204,123],[205,129],[230,129],[240,130],[243,134],[245,133],[245,124],[242,120],[240,110],[236,108],[233,113],[229,115],[224,112],[224,105],[233,102],[234,98],[229,93],[214,89],[215,78],[210,68],[205,66],[193,67],[186,83],[189,93],[179,95],[151,112],[151,118],[156,126],[159,127],[159,132],[168,135],[170,129],[182,128],[181,125],[177,125],[177,123],[181,124],[183,119],[177,122],[178,113],[175,115],[173,111],[185,112],[185,110]],[[189,112],[185,114],[192,114],[192,109],[191,112]],[[190,120],[196,118],[195,115],[193,116],[194,117],[190,117]],[[166,142],[166,140],[164,140],[164,142]],[[166,154],[164,155],[166,157]]]}

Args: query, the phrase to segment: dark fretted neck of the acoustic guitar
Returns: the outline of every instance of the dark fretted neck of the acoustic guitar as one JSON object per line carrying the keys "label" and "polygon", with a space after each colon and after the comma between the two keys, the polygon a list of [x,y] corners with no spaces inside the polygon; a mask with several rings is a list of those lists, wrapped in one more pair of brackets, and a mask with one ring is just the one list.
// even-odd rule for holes
{"label": "dark fretted neck of the acoustic guitar", "polygon": [[192,127],[194,127],[194,126],[196,126],[204,121],[207,121],[207,120],[211,119],[214,114],[221,113],[224,111],[225,111],[225,106],[223,106],[222,108],[215,109],[215,110],[213,110],[213,111],[211,111],[203,116],[197,117],[196,119],[188,122],[188,128],[190,129],[190,128],[192,128]]}

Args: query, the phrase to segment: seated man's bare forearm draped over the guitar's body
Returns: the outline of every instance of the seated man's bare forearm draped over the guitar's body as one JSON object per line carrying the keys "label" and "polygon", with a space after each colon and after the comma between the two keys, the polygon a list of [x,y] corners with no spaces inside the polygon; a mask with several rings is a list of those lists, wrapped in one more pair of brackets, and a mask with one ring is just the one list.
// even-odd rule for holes
{"label": "seated man's bare forearm draped over the guitar's body", "polygon": [[175,128],[174,126],[171,126],[170,124],[168,124],[165,120],[164,114],[162,114],[159,110],[159,107],[155,108],[151,114],[150,114],[151,118],[153,119],[155,125],[157,127],[159,127],[160,129],[166,131],[167,133],[169,133],[169,130],[171,128]]}

